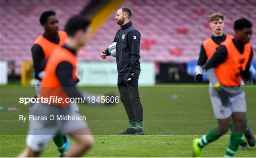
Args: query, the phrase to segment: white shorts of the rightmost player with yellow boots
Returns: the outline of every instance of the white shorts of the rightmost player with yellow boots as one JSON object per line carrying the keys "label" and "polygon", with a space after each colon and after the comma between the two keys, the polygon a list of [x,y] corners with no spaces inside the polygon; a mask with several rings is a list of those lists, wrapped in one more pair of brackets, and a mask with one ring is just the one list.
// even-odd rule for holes
{"label": "white shorts of the rightmost player with yellow boots", "polygon": [[246,112],[246,99],[245,92],[242,91],[234,97],[229,97],[231,106],[224,107],[222,106],[219,94],[213,89],[209,88],[210,101],[213,108],[213,113],[217,119],[226,119],[232,115],[233,112]]}

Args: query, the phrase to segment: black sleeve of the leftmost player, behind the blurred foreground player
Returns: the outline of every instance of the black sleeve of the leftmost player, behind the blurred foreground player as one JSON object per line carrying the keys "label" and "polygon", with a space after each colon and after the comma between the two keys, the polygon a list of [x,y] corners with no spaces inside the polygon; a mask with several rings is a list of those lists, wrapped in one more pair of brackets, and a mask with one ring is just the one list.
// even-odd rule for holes
{"label": "black sleeve of the leftmost player, behind the blurred foreground player", "polygon": [[34,64],[34,70],[35,70],[35,78],[38,80],[41,80],[39,77],[39,73],[41,71],[44,71],[44,61],[45,61],[45,53],[41,46],[38,44],[34,44],[33,47],[31,48],[32,52],[32,59],[33,59],[33,64]]}

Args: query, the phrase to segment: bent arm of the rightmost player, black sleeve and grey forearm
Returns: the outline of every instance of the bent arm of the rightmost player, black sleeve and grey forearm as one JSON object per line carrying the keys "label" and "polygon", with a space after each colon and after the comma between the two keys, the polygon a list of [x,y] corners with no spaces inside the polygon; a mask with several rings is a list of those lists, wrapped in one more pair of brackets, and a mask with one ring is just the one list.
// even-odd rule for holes
{"label": "bent arm of the rightmost player, black sleeve and grey forearm", "polygon": [[219,46],[216,49],[216,52],[212,55],[210,60],[205,65],[206,74],[210,80],[210,82],[214,86],[219,86],[219,81],[214,72],[214,67],[217,67],[219,64],[224,62],[228,56],[228,52],[225,46]]}

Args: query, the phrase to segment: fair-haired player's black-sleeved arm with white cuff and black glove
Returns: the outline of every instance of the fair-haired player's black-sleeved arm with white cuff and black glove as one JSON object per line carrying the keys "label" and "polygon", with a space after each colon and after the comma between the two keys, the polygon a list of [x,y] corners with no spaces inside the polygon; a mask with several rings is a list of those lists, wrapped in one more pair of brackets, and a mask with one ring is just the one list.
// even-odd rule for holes
{"label": "fair-haired player's black-sleeved arm with white cuff and black glove", "polygon": [[202,78],[203,66],[206,62],[207,62],[207,56],[206,56],[206,52],[205,52],[205,49],[202,44],[201,49],[200,49],[199,59],[197,61],[197,66],[195,67],[196,81],[198,83],[200,83],[203,80],[203,78]]}

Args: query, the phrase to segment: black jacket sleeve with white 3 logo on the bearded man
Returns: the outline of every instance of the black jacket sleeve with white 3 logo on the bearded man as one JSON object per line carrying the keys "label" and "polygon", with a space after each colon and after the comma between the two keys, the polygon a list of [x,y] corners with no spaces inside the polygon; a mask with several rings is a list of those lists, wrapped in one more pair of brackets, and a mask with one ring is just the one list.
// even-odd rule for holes
{"label": "black jacket sleeve with white 3 logo on the bearded man", "polygon": [[140,33],[137,30],[133,30],[128,33],[128,44],[131,50],[131,63],[130,72],[135,72],[135,68],[138,65],[139,55],[139,44],[140,44]]}

